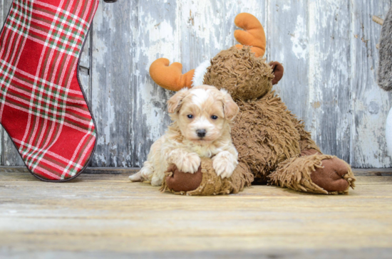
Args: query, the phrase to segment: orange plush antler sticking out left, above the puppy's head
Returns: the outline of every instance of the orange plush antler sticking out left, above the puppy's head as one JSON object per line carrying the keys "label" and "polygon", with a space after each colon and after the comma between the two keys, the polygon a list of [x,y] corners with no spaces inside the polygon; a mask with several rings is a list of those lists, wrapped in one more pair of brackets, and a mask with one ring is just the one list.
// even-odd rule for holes
{"label": "orange plush antler sticking out left, above the puppy's head", "polygon": [[167,58],[158,58],[150,66],[151,78],[161,87],[178,91],[182,88],[190,88],[192,85],[192,78],[195,70],[192,69],[185,74],[182,74],[182,64],[172,63]]}

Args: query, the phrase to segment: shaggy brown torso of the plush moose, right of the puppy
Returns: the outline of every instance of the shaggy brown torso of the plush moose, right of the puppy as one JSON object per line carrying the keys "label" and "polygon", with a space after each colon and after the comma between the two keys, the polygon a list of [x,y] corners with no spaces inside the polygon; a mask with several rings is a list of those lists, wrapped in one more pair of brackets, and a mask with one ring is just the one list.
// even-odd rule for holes
{"label": "shaggy brown torso of the plush moose, right of the puppy", "polygon": [[274,92],[258,100],[237,101],[239,114],[232,124],[232,139],[239,162],[263,179],[279,163],[301,153],[301,136],[293,115]]}

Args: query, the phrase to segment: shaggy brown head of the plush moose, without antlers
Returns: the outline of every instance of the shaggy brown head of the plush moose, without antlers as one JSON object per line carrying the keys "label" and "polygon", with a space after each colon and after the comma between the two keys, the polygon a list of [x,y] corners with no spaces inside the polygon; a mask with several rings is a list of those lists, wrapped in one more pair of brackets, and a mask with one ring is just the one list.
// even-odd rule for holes
{"label": "shaggy brown head of the plush moose, without antlers", "polygon": [[205,85],[225,88],[233,100],[253,100],[272,89],[274,74],[264,58],[256,58],[249,47],[235,46],[221,51],[211,60]]}

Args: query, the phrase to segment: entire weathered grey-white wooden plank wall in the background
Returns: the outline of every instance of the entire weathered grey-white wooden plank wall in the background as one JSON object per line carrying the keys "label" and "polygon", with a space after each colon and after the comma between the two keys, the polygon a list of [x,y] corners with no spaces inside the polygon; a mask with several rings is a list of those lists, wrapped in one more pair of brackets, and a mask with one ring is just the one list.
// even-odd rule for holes
{"label": "entire weathered grey-white wooden plank wall in the background", "polygon": [[[0,0],[4,21],[11,0]],[[234,17],[257,16],[267,60],[284,64],[275,87],[325,153],[355,167],[391,167],[384,123],[392,95],[376,85],[381,26],[391,0],[119,0],[101,3],[81,78],[98,124],[92,166],[141,166],[170,123],[172,95],[153,83],[156,58],[184,71],[232,46]],[[1,164],[23,164],[1,129]]]}

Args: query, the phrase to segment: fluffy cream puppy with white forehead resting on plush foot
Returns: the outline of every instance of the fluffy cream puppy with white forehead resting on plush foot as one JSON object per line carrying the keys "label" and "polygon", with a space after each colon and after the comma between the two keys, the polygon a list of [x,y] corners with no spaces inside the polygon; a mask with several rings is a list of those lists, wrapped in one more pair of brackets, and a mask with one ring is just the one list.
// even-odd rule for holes
{"label": "fluffy cream puppy with white forehead resting on plush foot", "polygon": [[227,91],[210,85],[184,88],[167,101],[167,109],[172,124],[151,146],[143,168],[129,176],[130,181],[150,180],[151,185],[160,186],[170,164],[193,174],[199,169],[200,157],[212,158],[218,176],[231,176],[238,152],[229,122],[239,108]]}

